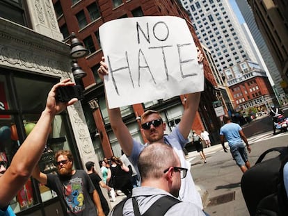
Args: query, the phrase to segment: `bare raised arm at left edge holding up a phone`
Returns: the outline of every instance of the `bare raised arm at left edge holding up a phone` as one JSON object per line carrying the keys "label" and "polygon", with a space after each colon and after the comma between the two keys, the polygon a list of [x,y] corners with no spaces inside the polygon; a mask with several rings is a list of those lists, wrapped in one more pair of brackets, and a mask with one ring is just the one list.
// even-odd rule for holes
{"label": "bare raised arm at left edge holding up a phone", "polygon": [[15,153],[10,167],[0,178],[0,208],[7,206],[31,176],[35,165],[37,165],[42,151],[47,142],[51,122],[57,113],[61,113],[66,106],[71,105],[77,99],[67,103],[56,102],[56,90],[59,86],[74,85],[70,79],[65,79],[51,88],[47,97],[45,110],[21,147]]}

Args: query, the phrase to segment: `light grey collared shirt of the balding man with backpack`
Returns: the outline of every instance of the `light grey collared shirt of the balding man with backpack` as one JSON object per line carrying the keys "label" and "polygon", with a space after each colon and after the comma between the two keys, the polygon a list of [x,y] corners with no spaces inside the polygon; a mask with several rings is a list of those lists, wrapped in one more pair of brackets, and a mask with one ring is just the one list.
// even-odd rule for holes
{"label": "light grey collared shirt of the balding man with backpack", "polygon": [[[141,215],[145,213],[152,204],[157,201],[157,199],[163,197],[164,195],[168,195],[173,197],[170,193],[166,192],[165,190],[161,190],[158,188],[151,188],[151,187],[139,187],[133,188],[132,197],[136,198],[138,203],[139,211]],[[125,216],[134,216],[134,210],[132,205],[132,199],[128,199],[123,207],[123,215]],[[113,210],[109,214],[110,216],[113,215]],[[190,202],[179,202],[176,203],[174,206],[169,208],[169,210],[165,214],[166,216],[175,216],[175,215],[204,215],[202,209],[199,206],[196,206]]]}

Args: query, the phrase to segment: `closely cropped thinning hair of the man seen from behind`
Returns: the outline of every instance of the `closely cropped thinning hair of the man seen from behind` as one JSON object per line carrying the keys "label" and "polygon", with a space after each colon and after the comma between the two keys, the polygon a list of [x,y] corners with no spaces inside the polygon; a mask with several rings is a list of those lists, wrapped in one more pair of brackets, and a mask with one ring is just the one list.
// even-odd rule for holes
{"label": "closely cropped thinning hair of the man seen from behind", "polygon": [[178,161],[170,145],[160,142],[149,144],[138,158],[141,179],[144,181],[148,178],[160,178],[165,169],[176,166]]}

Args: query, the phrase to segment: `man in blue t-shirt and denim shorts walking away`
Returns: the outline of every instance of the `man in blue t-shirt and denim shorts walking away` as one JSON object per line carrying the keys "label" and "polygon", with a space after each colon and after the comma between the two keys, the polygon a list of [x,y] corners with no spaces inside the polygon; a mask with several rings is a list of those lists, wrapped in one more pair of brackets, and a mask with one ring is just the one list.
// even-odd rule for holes
{"label": "man in blue t-shirt and denim shorts walking away", "polygon": [[251,148],[248,144],[248,140],[243,133],[241,126],[231,122],[231,118],[229,116],[225,115],[223,117],[223,122],[225,124],[220,128],[220,140],[222,147],[224,151],[227,152],[227,148],[224,144],[224,138],[226,138],[233,159],[244,173],[247,171],[247,169],[250,169],[250,162],[248,160],[247,152],[243,144],[244,141],[246,143],[247,150],[250,153]]}

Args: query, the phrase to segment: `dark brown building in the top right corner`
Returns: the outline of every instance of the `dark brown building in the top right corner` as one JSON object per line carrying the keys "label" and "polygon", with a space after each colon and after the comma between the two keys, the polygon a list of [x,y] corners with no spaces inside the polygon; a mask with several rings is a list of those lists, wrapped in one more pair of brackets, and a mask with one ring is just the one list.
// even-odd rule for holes
{"label": "dark brown building in the top right corner", "polygon": [[282,76],[288,92],[288,4],[281,0],[248,0],[255,21]]}

